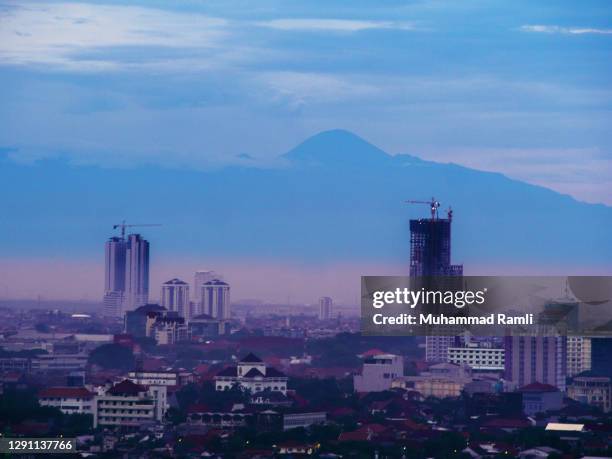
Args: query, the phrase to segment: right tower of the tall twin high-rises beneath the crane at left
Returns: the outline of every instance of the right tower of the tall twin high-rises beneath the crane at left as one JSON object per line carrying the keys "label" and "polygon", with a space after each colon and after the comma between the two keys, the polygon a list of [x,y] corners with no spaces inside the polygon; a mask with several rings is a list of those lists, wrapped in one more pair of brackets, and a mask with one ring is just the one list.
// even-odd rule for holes
{"label": "right tower of the tall twin high-rises beneath the crane at left", "polygon": [[130,234],[125,249],[125,310],[149,301],[149,242]]}

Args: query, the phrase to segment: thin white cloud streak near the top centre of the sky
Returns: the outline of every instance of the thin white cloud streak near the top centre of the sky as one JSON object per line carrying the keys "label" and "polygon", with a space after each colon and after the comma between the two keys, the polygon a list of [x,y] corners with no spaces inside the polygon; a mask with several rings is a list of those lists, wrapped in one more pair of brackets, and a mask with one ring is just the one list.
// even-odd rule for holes
{"label": "thin white cloud streak near the top centre of the sky", "polygon": [[274,19],[258,22],[257,25],[277,30],[311,32],[360,32],[372,29],[415,30],[415,26],[409,22],[355,19]]}

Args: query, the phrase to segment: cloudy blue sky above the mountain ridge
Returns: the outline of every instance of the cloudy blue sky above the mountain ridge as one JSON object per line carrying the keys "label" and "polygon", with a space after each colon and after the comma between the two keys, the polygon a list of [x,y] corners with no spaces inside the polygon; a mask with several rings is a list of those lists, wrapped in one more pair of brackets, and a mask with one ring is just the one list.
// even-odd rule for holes
{"label": "cloudy blue sky above the mountain ridge", "polygon": [[0,147],[265,164],[325,129],[612,204],[607,1],[8,2]]}

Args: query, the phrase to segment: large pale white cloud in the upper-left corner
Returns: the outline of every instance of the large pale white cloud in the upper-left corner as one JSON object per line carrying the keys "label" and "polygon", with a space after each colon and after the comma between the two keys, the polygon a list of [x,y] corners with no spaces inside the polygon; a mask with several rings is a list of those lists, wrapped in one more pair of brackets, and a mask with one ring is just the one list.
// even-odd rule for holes
{"label": "large pale white cloud in the upper-left corner", "polygon": [[134,6],[30,3],[6,7],[0,24],[0,63],[4,65],[112,70],[119,59],[96,50],[210,50],[225,37],[227,21]]}

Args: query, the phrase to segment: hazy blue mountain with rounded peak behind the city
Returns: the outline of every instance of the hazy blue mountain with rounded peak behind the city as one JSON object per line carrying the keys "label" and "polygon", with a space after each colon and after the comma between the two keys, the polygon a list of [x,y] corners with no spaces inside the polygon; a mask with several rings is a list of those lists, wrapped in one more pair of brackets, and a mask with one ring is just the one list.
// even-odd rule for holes
{"label": "hazy blue mountain with rounded peak behind the city", "polygon": [[[455,164],[389,155],[342,130],[319,133],[281,167],[132,169],[0,159],[5,256],[97,256],[112,225],[143,228],[152,253],[406,263],[410,218],[452,206],[453,260],[469,266],[612,265],[612,208]],[[407,269],[406,269],[407,272]],[[372,274],[372,273],[369,273]],[[375,274],[375,273],[374,273]],[[402,273],[398,273],[402,274]]]}

